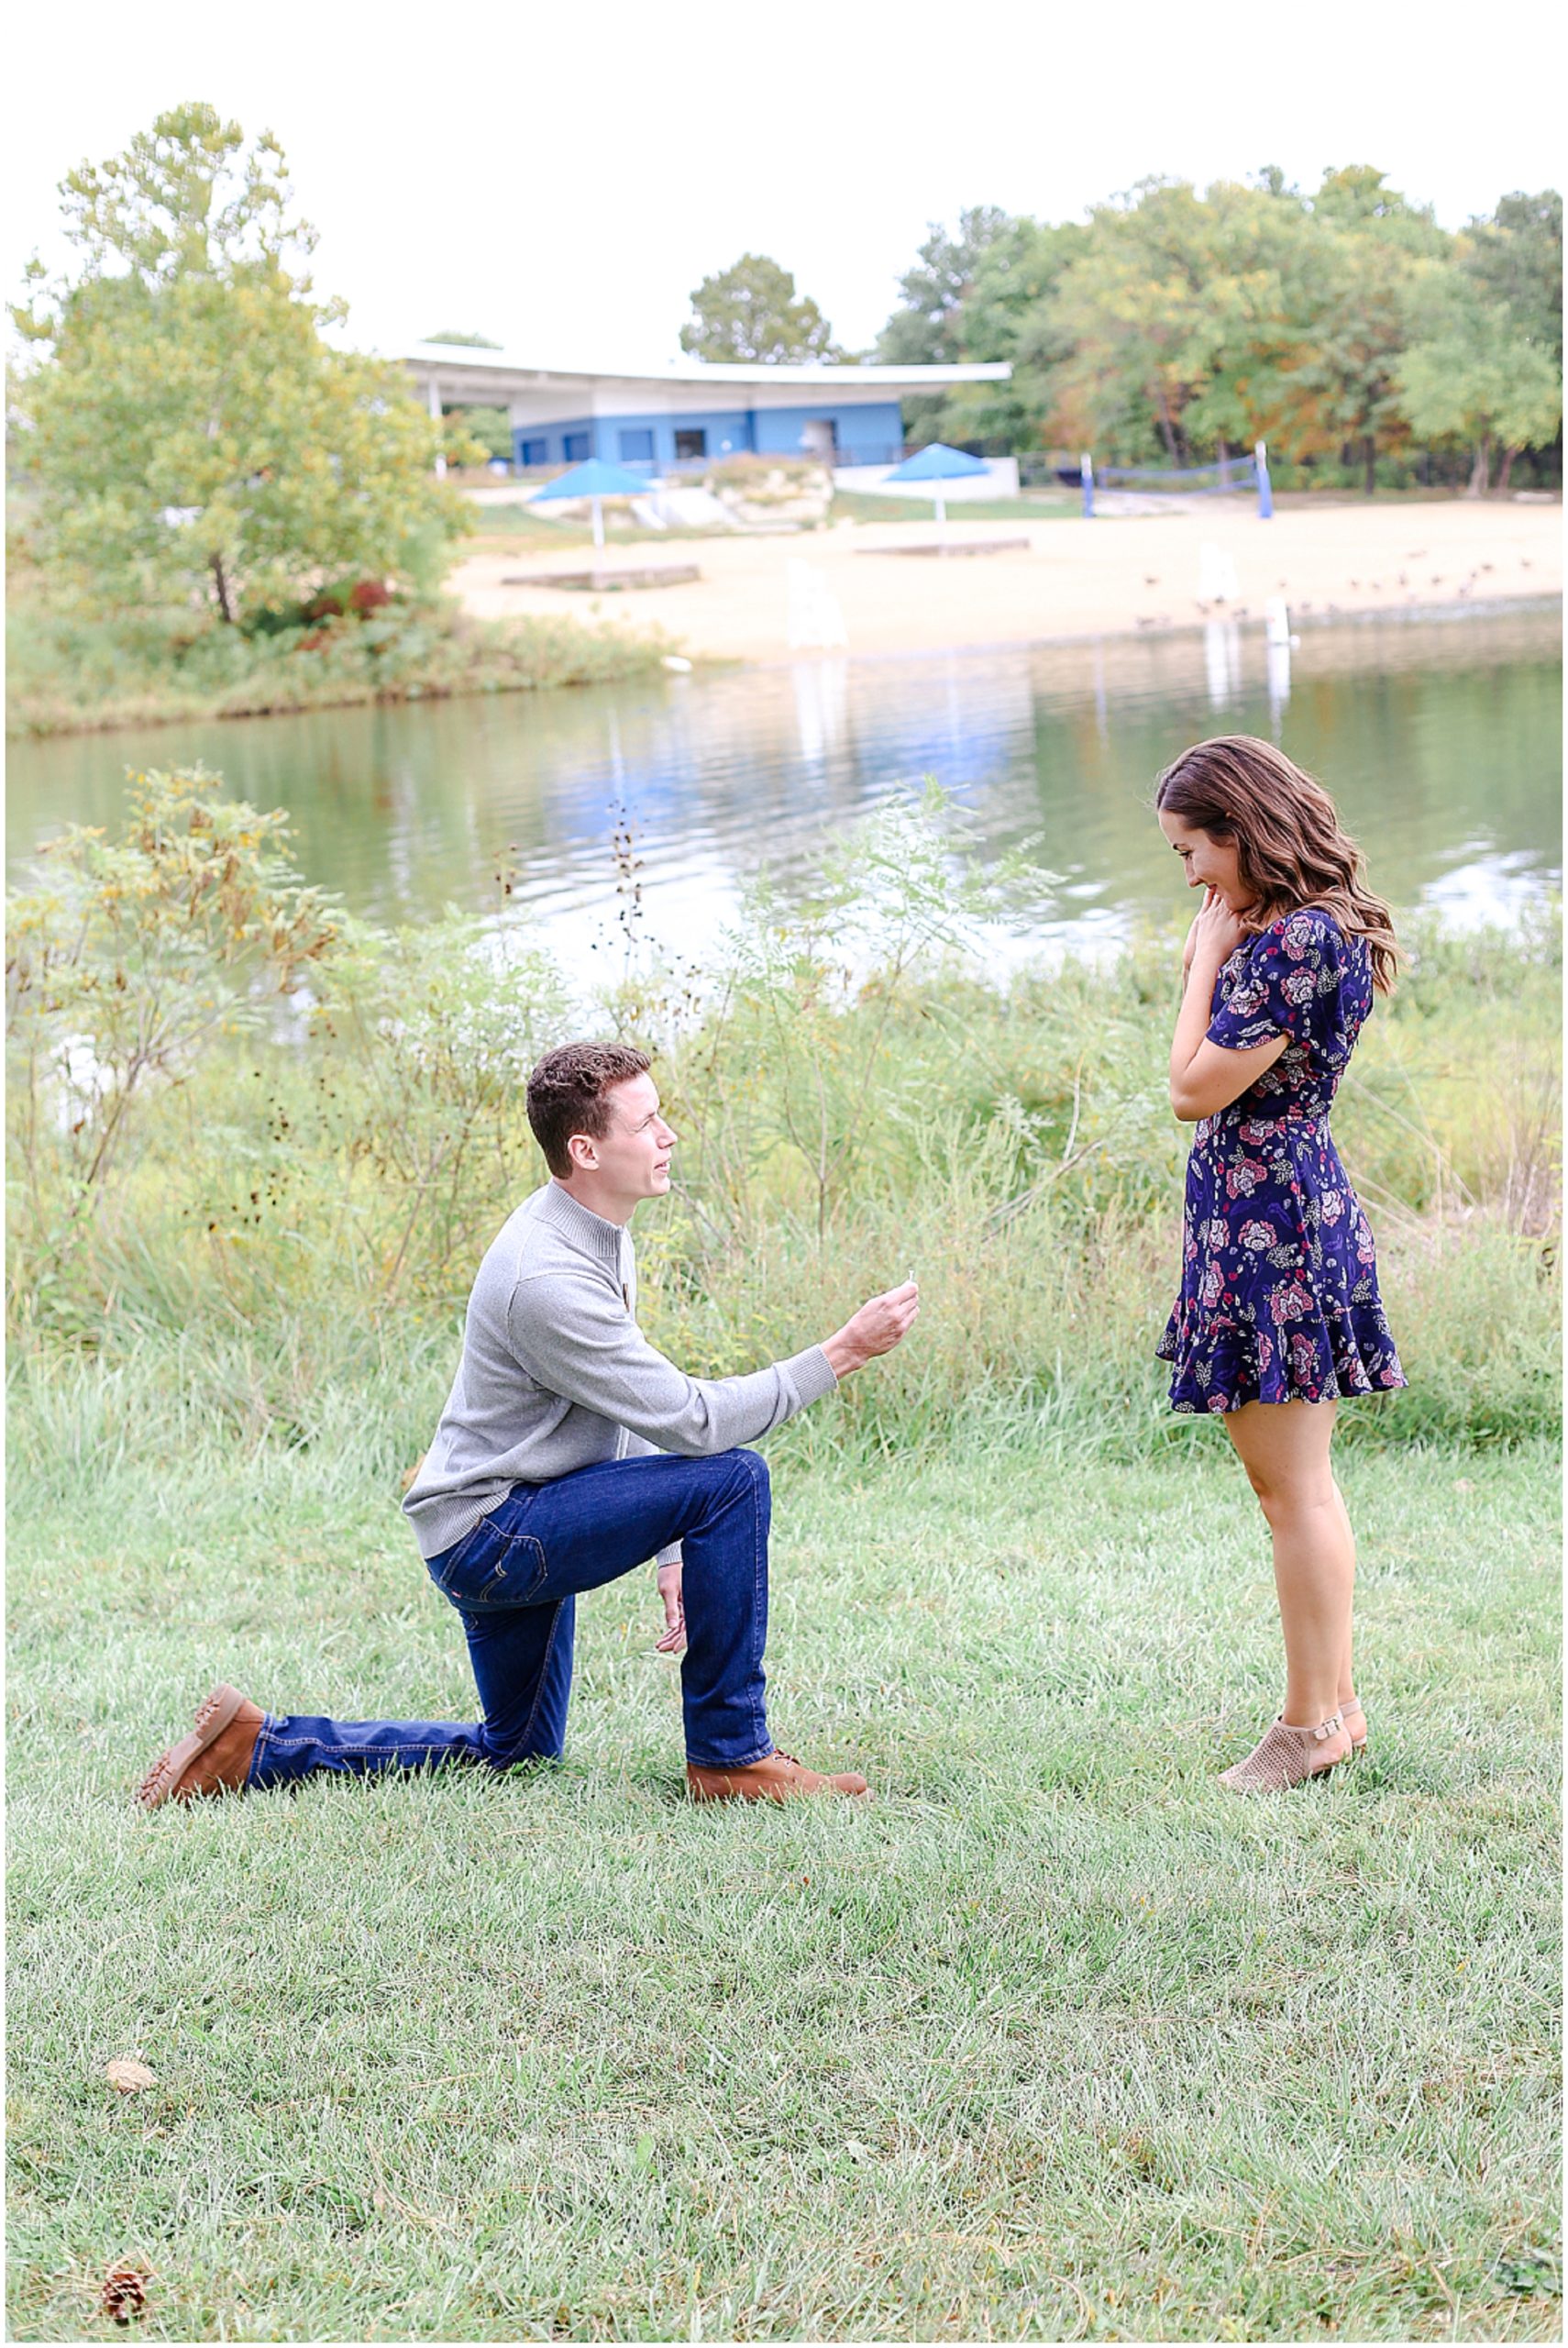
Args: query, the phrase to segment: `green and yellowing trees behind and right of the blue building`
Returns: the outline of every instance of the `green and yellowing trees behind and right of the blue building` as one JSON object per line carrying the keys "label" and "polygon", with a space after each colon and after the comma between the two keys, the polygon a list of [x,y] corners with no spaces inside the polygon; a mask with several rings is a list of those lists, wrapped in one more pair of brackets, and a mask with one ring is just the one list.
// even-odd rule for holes
{"label": "green and yellowing trees behind and right of the blue building", "polygon": [[[1505,195],[1451,232],[1354,164],[1307,195],[1148,178],[1087,221],[976,204],[932,223],[864,357],[1005,359],[1005,385],[906,402],[911,439],[1197,465],[1263,439],[1286,477],[1561,479],[1563,200]],[[744,254],[692,294],[707,359],[843,357],[793,277]]]}

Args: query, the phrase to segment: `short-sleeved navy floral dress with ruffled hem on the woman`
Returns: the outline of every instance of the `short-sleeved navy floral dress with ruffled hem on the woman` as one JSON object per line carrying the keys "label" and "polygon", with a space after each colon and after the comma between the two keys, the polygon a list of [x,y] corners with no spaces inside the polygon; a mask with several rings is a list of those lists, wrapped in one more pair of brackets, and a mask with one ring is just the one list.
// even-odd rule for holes
{"label": "short-sleeved navy floral dress with ruffled hem on the woman", "polygon": [[1204,1118],[1188,1158],[1181,1298],[1155,1348],[1174,1411],[1326,1402],[1404,1385],[1373,1237],[1329,1136],[1329,1104],[1373,1000],[1371,949],[1322,906],[1246,939],[1214,986],[1209,1043],[1289,1035],[1256,1085]]}

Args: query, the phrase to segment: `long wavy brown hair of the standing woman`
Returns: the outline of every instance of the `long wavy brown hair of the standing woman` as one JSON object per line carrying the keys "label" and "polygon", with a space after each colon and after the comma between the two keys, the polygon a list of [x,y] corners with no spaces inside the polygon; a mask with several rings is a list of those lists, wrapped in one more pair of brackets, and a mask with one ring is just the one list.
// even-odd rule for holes
{"label": "long wavy brown hair of the standing woman", "polygon": [[1340,831],[1322,782],[1303,775],[1272,742],[1253,735],[1195,742],[1167,765],[1155,808],[1216,841],[1235,841],[1237,876],[1256,899],[1246,913],[1249,930],[1268,930],[1270,920],[1303,904],[1322,904],[1340,930],[1366,939],[1378,993],[1394,991],[1394,916],[1364,885],[1361,850]]}

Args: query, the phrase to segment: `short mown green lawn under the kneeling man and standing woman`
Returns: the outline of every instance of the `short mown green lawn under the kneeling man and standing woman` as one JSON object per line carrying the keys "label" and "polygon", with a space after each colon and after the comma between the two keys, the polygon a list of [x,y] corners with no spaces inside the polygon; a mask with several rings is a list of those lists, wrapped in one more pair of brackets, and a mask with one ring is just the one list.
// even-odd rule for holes
{"label": "short mown green lawn under the kneeling man and standing woman", "polygon": [[1242,1803],[1190,1432],[784,1458],[775,1728],[864,1810],[685,1806],[646,1573],[559,1773],[143,1820],[216,1676],[469,1716],[458,1622],[385,1456],[23,1428],[12,2336],[129,2256],[153,2339],[1556,2339],[1556,1458],[1347,1456],[1373,1759]]}

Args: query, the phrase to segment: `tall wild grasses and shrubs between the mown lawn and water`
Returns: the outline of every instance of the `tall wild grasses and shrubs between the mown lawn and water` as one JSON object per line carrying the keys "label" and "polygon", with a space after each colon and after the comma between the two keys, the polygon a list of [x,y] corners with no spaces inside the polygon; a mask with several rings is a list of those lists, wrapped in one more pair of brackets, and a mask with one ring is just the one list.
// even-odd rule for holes
{"label": "tall wild grasses and shrubs between the mown lawn and water", "polygon": [[[291,878],[282,815],[200,768],[134,777],[117,838],[66,831],[9,899],[23,1406],[49,1364],[157,1355],[249,1444],[347,1397],[390,1331],[439,1348],[542,1179],[521,1078],[589,1028],[655,1054],[683,1134],[641,1249],[667,1350],[749,1369],[791,1352],[824,1294],[920,1270],[920,1345],[786,1442],[1188,1442],[1150,1357],[1188,1139],[1164,1097],[1178,942],[986,984],[974,925],[1049,885],[981,866],[932,791],[845,834],[812,904],[761,880],[711,967],[655,965],[629,918],[624,970],[589,1000],[516,918],[352,920]],[[1411,1392],[1352,1406],[1347,1435],[1549,1439],[1556,909],[1406,930],[1336,1132]]]}

